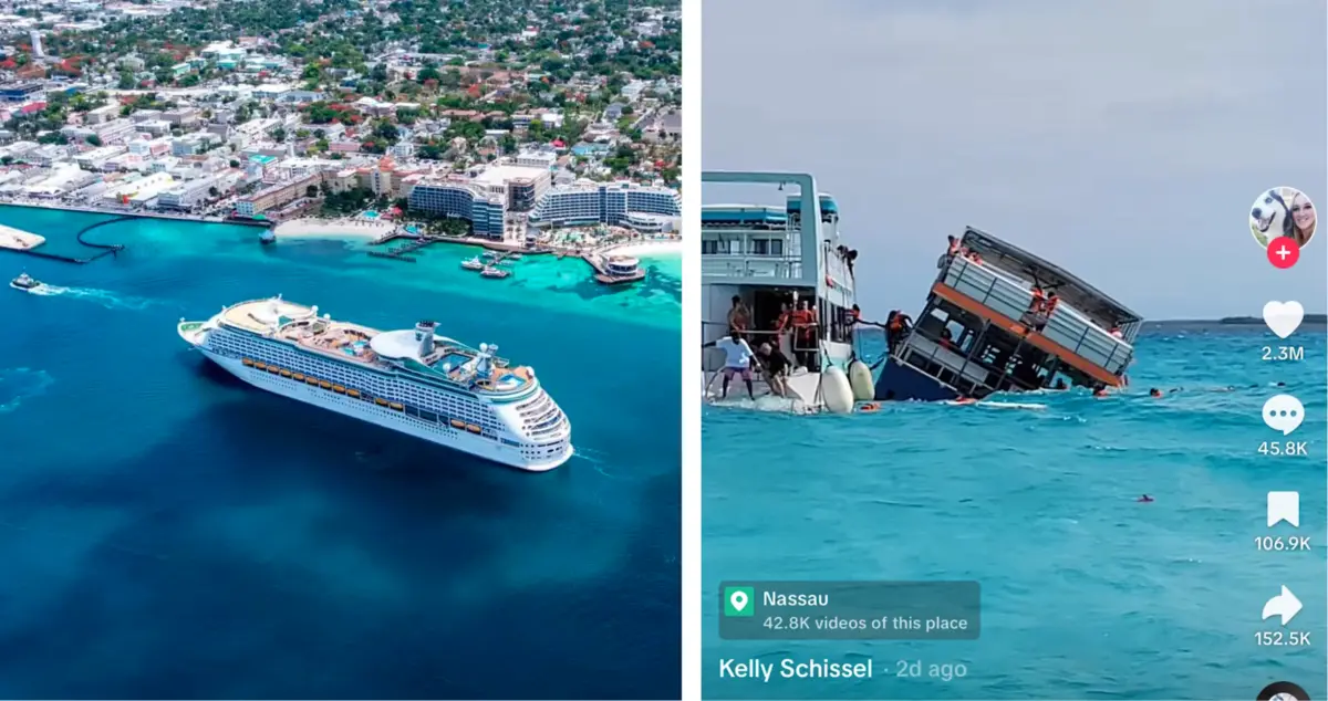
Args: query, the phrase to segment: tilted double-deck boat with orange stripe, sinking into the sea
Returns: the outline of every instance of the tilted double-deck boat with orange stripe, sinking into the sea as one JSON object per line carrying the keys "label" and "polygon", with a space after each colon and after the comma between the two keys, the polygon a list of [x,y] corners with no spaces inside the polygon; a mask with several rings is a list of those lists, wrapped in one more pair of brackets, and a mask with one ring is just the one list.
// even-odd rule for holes
{"label": "tilted double-deck boat with orange stripe, sinking into the sea", "polygon": [[960,246],[968,255],[942,255],[912,329],[890,339],[878,400],[1125,385],[1138,313],[985,231],[968,227]]}

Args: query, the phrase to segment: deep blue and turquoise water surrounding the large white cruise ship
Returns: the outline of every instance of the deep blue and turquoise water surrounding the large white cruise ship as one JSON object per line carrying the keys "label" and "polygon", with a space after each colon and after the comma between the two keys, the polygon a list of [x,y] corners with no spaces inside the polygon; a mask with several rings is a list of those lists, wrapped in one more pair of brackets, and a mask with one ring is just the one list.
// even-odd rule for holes
{"label": "deep blue and turquoise water surrounding the large white cruise ship", "polygon": [[[76,252],[105,216],[0,208]],[[433,247],[138,219],[0,252],[0,697],[677,697],[680,260],[507,280]],[[81,254],[80,254],[81,255]],[[527,474],[251,389],[181,317],[283,293],[533,365],[578,457]],[[629,343],[624,343],[629,340]],[[624,645],[631,640],[631,645]]]}

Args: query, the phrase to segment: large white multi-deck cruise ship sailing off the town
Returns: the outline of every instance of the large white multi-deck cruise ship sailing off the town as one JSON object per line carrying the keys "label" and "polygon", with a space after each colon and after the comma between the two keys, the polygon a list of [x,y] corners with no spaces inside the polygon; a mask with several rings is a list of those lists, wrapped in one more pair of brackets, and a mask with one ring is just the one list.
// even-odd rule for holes
{"label": "large white multi-deck cruise ship sailing off the town", "polygon": [[546,471],[572,455],[571,424],[529,366],[436,333],[377,331],[280,296],[181,320],[186,343],[240,380],[502,465]]}

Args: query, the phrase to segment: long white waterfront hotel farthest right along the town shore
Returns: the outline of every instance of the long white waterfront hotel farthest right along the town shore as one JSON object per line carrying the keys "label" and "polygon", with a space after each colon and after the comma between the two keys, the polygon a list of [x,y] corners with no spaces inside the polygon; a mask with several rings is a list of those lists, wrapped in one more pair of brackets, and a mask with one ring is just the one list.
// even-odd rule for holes
{"label": "long white waterfront hotel farthest right along the town shore", "polygon": [[582,181],[547,191],[530,212],[535,226],[608,224],[661,231],[665,222],[683,216],[677,191],[632,182]]}

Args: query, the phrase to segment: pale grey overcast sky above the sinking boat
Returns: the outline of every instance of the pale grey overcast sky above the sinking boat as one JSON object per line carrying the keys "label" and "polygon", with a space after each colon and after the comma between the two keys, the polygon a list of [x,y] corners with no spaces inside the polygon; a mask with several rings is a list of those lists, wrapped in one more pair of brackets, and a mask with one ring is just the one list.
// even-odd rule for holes
{"label": "pale grey overcast sky above the sinking boat", "polygon": [[815,175],[865,315],[920,309],[965,226],[1146,319],[1324,312],[1328,223],[1278,270],[1248,216],[1278,186],[1328,206],[1325,27],[1323,0],[708,1],[703,169]]}

